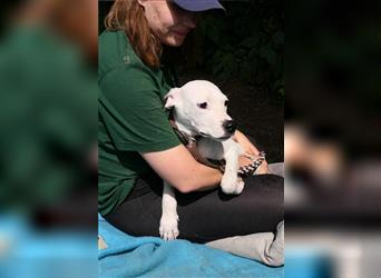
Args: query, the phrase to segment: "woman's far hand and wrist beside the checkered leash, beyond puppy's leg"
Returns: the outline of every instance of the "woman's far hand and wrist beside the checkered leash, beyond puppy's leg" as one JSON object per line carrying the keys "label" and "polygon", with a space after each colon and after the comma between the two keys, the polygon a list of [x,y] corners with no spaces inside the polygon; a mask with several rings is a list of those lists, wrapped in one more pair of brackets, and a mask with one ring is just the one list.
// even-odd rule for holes
{"label": "woman's far hand and wrist beside the checkered leash, beyond puppy's leg", "polygon": [[[247,155],[251,155],[254,157],[254,159],[258,158],[260,151],[258,149],[247,139],[247,137],[242,133],[241,131],[236,130],[234,133],[234,138],[233,138],[237,143],[240,143],[241,148],[244,149],[244,151]],[[240,167],[243,166],[247,166],[251,165],[252,160],[250,160],[248,158],[242,156],[240,157]],[[268,173],[268,169],[267,169],[267,161],[264,160],[261,166],[258,167],[258,169],[256,170],[255,173]]]}

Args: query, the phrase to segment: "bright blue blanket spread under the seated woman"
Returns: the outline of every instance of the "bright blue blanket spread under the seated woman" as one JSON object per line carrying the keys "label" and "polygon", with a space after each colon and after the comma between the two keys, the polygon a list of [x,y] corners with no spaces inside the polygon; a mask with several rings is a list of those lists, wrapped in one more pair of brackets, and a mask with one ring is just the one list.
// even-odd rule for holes
{"label": "bright blue blanket spread under the seated woman", "polygon": [[271,268],[186,240],[131,237],[99,218],[99,277],[257,277],[281,278],[283,267]]}

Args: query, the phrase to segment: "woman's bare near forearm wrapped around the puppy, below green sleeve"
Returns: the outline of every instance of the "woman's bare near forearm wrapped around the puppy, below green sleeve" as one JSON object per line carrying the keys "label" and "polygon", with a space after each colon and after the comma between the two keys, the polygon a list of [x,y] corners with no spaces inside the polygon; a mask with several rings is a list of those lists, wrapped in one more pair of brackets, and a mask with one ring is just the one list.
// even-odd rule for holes
{"label": "woman's bare near forearm wrapped around the puppy, below green sleeve", "polygon": [[222,173],[197,162],[183,145],[140,155],[162,179],[183,193],[219,186]]}

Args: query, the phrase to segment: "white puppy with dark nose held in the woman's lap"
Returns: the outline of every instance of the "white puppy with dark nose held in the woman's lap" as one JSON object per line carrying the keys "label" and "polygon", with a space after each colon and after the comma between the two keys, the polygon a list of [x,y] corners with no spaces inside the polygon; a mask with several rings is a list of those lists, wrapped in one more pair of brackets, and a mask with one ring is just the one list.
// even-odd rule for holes
{"label": "white puppy with dark nose held in the woman's lap", "polygon": [[[227,98],[212,82],[195,80],[182,88],[172,89],[166,96],[165,108],[173,109],[173,119],[189,143],[197,138],[198,153],[206,159],[225,160],[221,181],[225,193],[238,195],[244,181],[238,178],[241,146],[232,139],[236,125],[227,115]],[[178,236],[177,202],[173,187],[164,182],[160,236],[168,240]]]}

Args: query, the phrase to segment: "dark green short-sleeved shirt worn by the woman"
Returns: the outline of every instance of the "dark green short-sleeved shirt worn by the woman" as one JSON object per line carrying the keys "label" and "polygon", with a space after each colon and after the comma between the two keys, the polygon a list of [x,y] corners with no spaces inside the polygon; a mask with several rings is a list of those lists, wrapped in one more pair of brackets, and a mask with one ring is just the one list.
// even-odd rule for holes
{"label": "dark green short-sleeved shirt worn by the woman", "polygon": [[98,210],[106,216],[139,176],[153,172],[138,152],[180,142],[164,109],[164,96],[174,87],[169,71],[145,66],[124,31],[100,34],[98,68]]}

